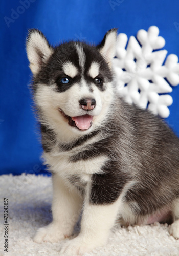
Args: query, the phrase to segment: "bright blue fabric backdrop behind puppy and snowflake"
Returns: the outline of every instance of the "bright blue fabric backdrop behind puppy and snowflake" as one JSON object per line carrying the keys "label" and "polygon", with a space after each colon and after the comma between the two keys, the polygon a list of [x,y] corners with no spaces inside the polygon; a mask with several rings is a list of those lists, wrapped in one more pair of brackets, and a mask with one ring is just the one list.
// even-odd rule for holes
{"label": "bright blue fabric backdrop behind puppy and snowflake", "polygon": [[[55,44],[68,39],[97,43],[113,27],[130,36],[156,25],[168,54],[179,56],[178,0],[2,0],[0,12],[0,174],[43,171],[25,51],[29,28],[40,29]],[[171,95],[167,122],[179,135],[179,86]]]}

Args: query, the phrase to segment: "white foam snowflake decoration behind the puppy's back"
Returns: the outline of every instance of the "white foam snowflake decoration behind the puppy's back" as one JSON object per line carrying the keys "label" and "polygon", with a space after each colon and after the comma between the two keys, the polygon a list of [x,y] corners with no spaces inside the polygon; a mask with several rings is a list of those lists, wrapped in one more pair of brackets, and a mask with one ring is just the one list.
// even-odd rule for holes
{"label": "white foam snowflake decoration behind the puppy's back", "polygon": [[166,58],[167,51],[161,50],[165,39],[156,26],[139,30],[137,39],[130,36],[128,44],[127,40],[126,34],[118,35],[113,62],[119,94],[129,103],[148,106],[154,114],[168,117],[173,99],[167,93],[179,84],[178,57],[170,54]]}

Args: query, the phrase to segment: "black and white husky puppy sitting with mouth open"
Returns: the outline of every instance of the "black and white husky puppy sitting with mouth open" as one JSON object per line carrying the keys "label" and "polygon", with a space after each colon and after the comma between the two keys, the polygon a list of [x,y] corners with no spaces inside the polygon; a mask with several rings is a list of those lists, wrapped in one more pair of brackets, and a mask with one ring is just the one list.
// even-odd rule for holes
{"label": "black and white husky puppy sitting with mouth open", "polygon": [[37,29],[27,38],[45,163],[52,172],[53,221],[35,242],[78,236],[60,251],[82,255],[106,243],[118,220],[149,224],[172,217],[179,238],[179,140],[163,120],[115,91],[117,30],[101,44],[52,47]]}

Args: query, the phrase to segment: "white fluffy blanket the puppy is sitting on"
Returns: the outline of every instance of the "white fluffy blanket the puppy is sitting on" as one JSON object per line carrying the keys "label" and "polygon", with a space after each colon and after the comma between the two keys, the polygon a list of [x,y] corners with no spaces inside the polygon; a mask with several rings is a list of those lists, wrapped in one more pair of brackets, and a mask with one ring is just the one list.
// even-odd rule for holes
{"label": "white fluffy blanket the puppy is sitting on", "polygon": [[[35,175],[0,176],[1,231],[0,255],[58,255],[63,242],[33,242],[39,227],[52,220],[51,177]],[[4,198],[8,199],[8,252],[4,251]],[[104,247],[85,256],[178,256],[179,240],[168,233],[167,224],[154,223],[128,228],[114,227]]]}

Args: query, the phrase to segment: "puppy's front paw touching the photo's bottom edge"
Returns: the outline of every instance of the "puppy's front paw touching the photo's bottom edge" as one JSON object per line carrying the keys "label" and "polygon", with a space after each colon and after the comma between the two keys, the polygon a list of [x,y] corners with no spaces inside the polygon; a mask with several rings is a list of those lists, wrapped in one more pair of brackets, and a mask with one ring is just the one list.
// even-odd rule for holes
{"label": "puppy's front paw touching the photo's bottom edge", "polygon": [[101,246],[103,243],[97,240],[90,240],[89,238],[76,237],[72,240],[66,241],[60,250],[60,256],[77,256],[83,255],[86,252],[90,252],[97,246]]}

